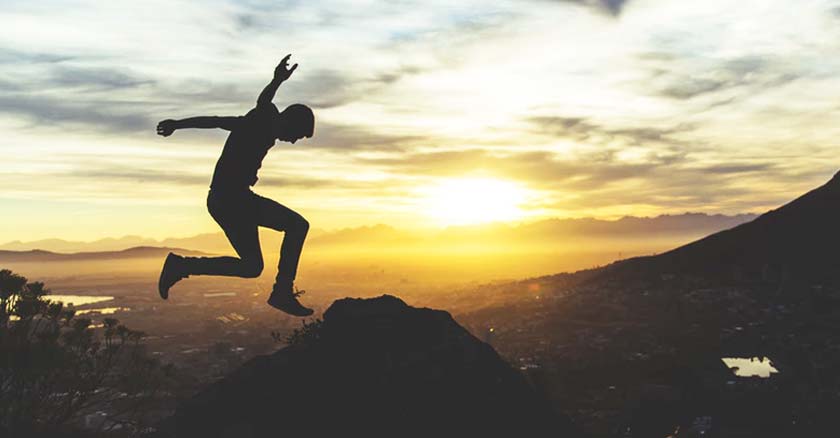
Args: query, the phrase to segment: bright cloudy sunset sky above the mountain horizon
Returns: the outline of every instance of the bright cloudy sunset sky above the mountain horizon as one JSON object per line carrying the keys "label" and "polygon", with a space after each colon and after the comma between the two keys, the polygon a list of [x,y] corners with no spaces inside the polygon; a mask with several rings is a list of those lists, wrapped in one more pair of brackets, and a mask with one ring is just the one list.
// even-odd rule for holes
{"label": "bright cloudy sunset sky above the mountain horizon", "polygon": [[315,136],[254,190],[316,228],[761,212],[840,168],[840,1],[4,0],[0,22],[0,242],[216,231],[226,132],[155,125],[244,114],[287,53],[275,103]]}

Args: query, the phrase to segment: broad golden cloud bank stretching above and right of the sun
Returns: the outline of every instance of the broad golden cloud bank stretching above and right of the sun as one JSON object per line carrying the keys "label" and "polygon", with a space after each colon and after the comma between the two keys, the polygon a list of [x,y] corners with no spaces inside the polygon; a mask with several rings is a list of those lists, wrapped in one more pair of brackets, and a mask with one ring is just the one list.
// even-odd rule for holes
{"label": "broad golden cloud bank stretching above and right of the sun", "polygon": [[404,177],[515,181],[542,194],[532,207],[576,215],[661,211],[662,205],[671,211],[760,210],[784,199],[772,190],[756,192],[752,186],[790,173],[770,160],[701,163],[685,157],[650,157],[627,162],[617,154],[599,152],[564,156],[552,151],[468,149],[359,160]]}

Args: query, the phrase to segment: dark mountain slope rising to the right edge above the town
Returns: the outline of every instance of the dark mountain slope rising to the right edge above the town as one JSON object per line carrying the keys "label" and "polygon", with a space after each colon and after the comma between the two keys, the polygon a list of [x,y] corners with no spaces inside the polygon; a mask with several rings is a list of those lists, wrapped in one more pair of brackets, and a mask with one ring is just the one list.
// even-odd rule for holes
{"label": "dark mountain slope rising to the right edge above the town", "polygon": [[604,272],[722,279],[840,280],[840,172],[825,185],[753,221]]}

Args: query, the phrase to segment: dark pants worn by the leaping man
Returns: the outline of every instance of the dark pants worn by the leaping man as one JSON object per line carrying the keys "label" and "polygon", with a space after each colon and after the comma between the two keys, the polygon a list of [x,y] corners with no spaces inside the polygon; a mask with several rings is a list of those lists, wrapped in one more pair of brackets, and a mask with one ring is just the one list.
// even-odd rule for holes
{"label": "dark pants worn by the leaping man", "polygon": [[303,241],[309,231],[309,222],[303,216],[250,190],[231,193],[210,190],[207,210],[222,227],[239,258],[185,257],[187,275],[259,277],[263,257],[257,227],[268,227],[286,233],[280,247],[277,281],[294,281]]}

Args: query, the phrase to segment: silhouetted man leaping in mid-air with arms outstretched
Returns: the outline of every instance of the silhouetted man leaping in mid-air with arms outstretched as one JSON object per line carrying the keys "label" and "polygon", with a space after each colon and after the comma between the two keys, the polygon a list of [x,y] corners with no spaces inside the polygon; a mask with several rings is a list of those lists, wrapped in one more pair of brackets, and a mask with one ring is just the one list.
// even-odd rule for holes
{"label": "silhouetted man leaping in mid-air with arms outstretched", "polygon": [[230,131],[213,173],[207,210],[239,255],[239,258],[182,257],[169,253],[158,282],[161,298],[167,299],[169,289],[190,275],[258,277],[263,270],[263,258],[257,227],[268,227],[286,233],[268,304],[291,315],[312,314],[312,309],[298,301],[301,292],[294,289],[309,223],[298,213],[250,189],[257,183],[257,171],[276,140],[295,143],[301,138],[312,137],[314,131],[315,117],[307,106],[294,104],[278,112],[271,103],[277,88],[297,68],[297,64],[288,68],[290,56],[286,55],[277,65],[274,79],[260,93],[257,106],[246,115],[168,119],[158,124],[157,133],[164,137],[184,128],[222,128]]}

